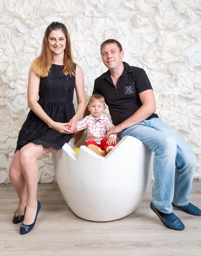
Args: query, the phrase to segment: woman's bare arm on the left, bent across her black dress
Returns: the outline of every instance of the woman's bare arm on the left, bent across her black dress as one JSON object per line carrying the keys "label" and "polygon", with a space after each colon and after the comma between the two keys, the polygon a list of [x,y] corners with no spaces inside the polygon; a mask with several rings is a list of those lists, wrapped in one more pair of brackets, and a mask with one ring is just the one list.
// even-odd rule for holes
{"label": "woman's bare arm on the left, bent across her black dress", "polygon": [[39,86],[40,86],[40,77],[37,76],[32,68],[30,68],[29,71],[29,83],[28,83],[28,92],[27,92],[27,98],[28,98],[28,107],[31,108],[31,110],[41,119],[43,122],[45,122],[50,128],[54,129],[55,131],[59,133],[72,133],[72,131],[69,131],[65,125],[67,123],[59,123],[53,121],[41,108],[41,106],[37,103],[38,98],[38,92],[39,92]]}

